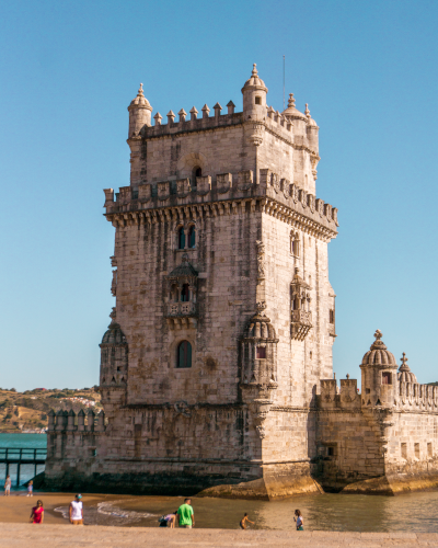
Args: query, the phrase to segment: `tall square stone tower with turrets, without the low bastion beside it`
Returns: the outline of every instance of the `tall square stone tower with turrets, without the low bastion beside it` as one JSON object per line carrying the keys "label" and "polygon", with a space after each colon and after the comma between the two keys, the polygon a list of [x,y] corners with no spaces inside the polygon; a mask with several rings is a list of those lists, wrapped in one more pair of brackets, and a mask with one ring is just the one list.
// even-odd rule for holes
{"label": "tall square stone tower with turrets, without the low bastion beside it", "polygon": [[78,468],[96,488],[136,478],[137,492],[315,489],[337,209],[315,195],[308,106],[291,94],[280,113],[267,92],[254,65],[243,112],[205,104],[152,125],[142,85],[128,107],[130,184],[104,191],[116,297],[101,345],[107,425]]}

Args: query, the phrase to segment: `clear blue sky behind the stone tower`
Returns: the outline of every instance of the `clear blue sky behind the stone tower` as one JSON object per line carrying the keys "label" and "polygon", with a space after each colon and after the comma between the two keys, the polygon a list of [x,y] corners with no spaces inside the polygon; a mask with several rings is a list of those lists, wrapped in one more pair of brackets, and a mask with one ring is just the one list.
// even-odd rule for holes
{"label": "clear blue sky behind the stone tower", "polygon": [[15,1],[0,5],[1,387],[83,387],[114,306],[102,189],[129,182],[126,107],[231,99],[256,62],[320,126],[334,369],[360,378],[377,328],[418,381],[435,336],[438,107],[433,1]]}

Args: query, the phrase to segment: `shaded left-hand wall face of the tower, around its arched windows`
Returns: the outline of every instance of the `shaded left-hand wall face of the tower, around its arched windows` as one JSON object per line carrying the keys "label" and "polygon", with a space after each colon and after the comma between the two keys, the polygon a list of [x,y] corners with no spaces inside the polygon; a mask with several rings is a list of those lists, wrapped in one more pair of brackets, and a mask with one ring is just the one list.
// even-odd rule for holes
{"label": "shaded left-hand wall face of the tower, around its arched windows", "polygon": [[[238,399],[238,339],[255,310],[255,240],[260,216],[196,221],[197,244],[175,249],[172,222],[117,230],[117,321],[129,345],[128,403],[233,402]],[[249,242],[254,242],[251,246]],[[197,328],[171,328],[165,276],[186,252],[198,271]],[[193,366],[176,369],[176,346],[187,339]]]}

